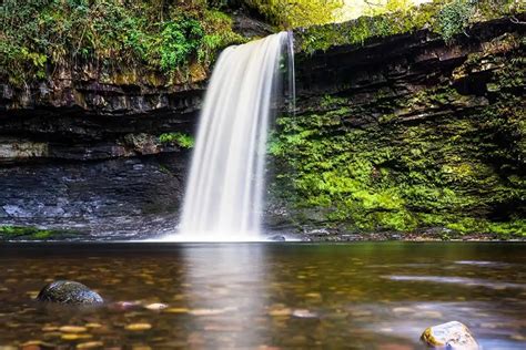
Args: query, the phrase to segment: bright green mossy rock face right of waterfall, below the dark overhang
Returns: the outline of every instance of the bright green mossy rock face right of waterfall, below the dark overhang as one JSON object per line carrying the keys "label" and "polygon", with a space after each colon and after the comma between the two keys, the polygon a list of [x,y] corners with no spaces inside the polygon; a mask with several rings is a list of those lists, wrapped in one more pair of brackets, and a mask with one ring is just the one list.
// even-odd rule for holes
{"label": "bright green mossy rock face right of waterfall, below the dark overhang", "polygon": [[524,42],[504,35],[438,84],[378,87],[363,103],[328,94],[282,115],[273,196],[296,223],[348,231],[526,236],[523,58]]}

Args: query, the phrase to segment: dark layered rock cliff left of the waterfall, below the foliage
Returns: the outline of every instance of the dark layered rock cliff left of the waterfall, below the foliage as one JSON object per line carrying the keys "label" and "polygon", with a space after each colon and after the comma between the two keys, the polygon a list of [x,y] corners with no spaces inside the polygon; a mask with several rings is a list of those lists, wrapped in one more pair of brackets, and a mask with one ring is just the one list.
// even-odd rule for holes
{"label": "dark layered rock cliff left of the waterfall, below the foliage", "polygon": [[193,133],[204,72],[170,87],[92,66],[55,76],[2,85],[0,223],[134,231],[162,217],[173,228],[164,218],[176,217],[190,151],[159,136]]}

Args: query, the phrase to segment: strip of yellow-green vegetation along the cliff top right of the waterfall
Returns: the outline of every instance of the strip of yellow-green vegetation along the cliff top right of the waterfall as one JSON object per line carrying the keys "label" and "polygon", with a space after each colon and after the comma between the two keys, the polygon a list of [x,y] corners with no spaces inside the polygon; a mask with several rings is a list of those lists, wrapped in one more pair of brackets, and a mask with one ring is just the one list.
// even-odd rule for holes
{"label": "strip of yellow-green vegetation along the cliff top right of the waterfall", "polygon": [[429,29],[451,41],[474,22],[524,12],[524,2],[515,0],[435,0],[419,7],[395,6],[356,20],[314,25],[295,33],[300,49],[307,53],[343,44],[364,44],[372,38]]}

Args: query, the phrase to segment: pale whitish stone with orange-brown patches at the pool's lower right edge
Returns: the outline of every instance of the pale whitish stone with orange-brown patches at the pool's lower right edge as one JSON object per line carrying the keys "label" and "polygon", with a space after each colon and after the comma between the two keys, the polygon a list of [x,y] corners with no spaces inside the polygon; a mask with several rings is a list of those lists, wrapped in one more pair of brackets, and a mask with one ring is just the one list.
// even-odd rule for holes
{"label": "pale whitish stone with orange-brown patches at the pool's lower right edge", "polygon": [[478,343],[469,329],[458,322],[452,321],[427,328],[421,337],[427,346],[453,350],[477,350]]}

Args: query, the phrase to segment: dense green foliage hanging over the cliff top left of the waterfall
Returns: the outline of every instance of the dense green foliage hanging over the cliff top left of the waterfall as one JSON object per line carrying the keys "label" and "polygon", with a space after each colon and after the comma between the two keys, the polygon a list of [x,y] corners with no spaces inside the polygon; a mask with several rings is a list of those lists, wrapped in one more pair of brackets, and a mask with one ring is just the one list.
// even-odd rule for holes
{"label": "dense green foliage hanging over the cliff top left of the waterfall", "polygon": [[4,0],[0,25],[0,76],[14,85],[83,62],[172,76],[244,41],[205,1]]}

